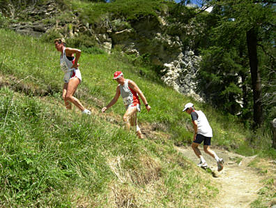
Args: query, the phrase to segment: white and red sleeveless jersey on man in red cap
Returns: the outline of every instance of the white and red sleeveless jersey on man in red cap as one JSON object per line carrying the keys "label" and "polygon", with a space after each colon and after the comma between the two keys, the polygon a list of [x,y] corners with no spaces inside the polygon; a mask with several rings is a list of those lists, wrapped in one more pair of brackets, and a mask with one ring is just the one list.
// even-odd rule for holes
{"label": "white and red sleeveless jersey on man in red cap", "polygon": [[128,86],[128,81],[125,80],[123,85],[120,84],[120,93],[123,98],[123,104],[128,108],[130,106],[140,105],[139,96],[137,92]]}

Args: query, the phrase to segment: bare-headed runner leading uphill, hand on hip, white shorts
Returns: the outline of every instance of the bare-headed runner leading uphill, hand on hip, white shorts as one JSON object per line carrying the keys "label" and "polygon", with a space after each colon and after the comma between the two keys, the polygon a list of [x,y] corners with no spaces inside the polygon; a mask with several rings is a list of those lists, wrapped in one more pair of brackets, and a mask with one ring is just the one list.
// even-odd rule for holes
{"label": "bare-headed runner leading uphill, hand on hip, white shorts", "polygon": [[[56,50],[61,52],[61,69],[64,72],[64,85],[62,91],[62,98],[65,102],[66,108],[68,110],[72,109],[71,103],[76,105],[79,110],[84,114],[91,114],[90,110],[84,108],[82,103],[79,102],[77,98],[74,97],[77,86],[82,82],[82,75],[79,71],[79,57],[81,55],[81,50],[76,48],[66,47],[65,40],[63,38],[58,38],[54,40],[54,45]],[[76,54],[76,57],[74,56]]]}

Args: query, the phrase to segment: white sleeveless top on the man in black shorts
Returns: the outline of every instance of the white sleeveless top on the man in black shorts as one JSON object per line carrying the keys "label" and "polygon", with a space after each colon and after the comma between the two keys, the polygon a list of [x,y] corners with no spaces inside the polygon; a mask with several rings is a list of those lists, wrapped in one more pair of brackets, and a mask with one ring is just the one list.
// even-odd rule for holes
{"label": "white sleeveless top on the man in black shorts", "polygon": [[204,114],[201,110],[194,110],[198,114],[197,118],[197,133],[204,135],[208,138],[213,137],[213,131],[212,128],[210,127],[210,124]]}

